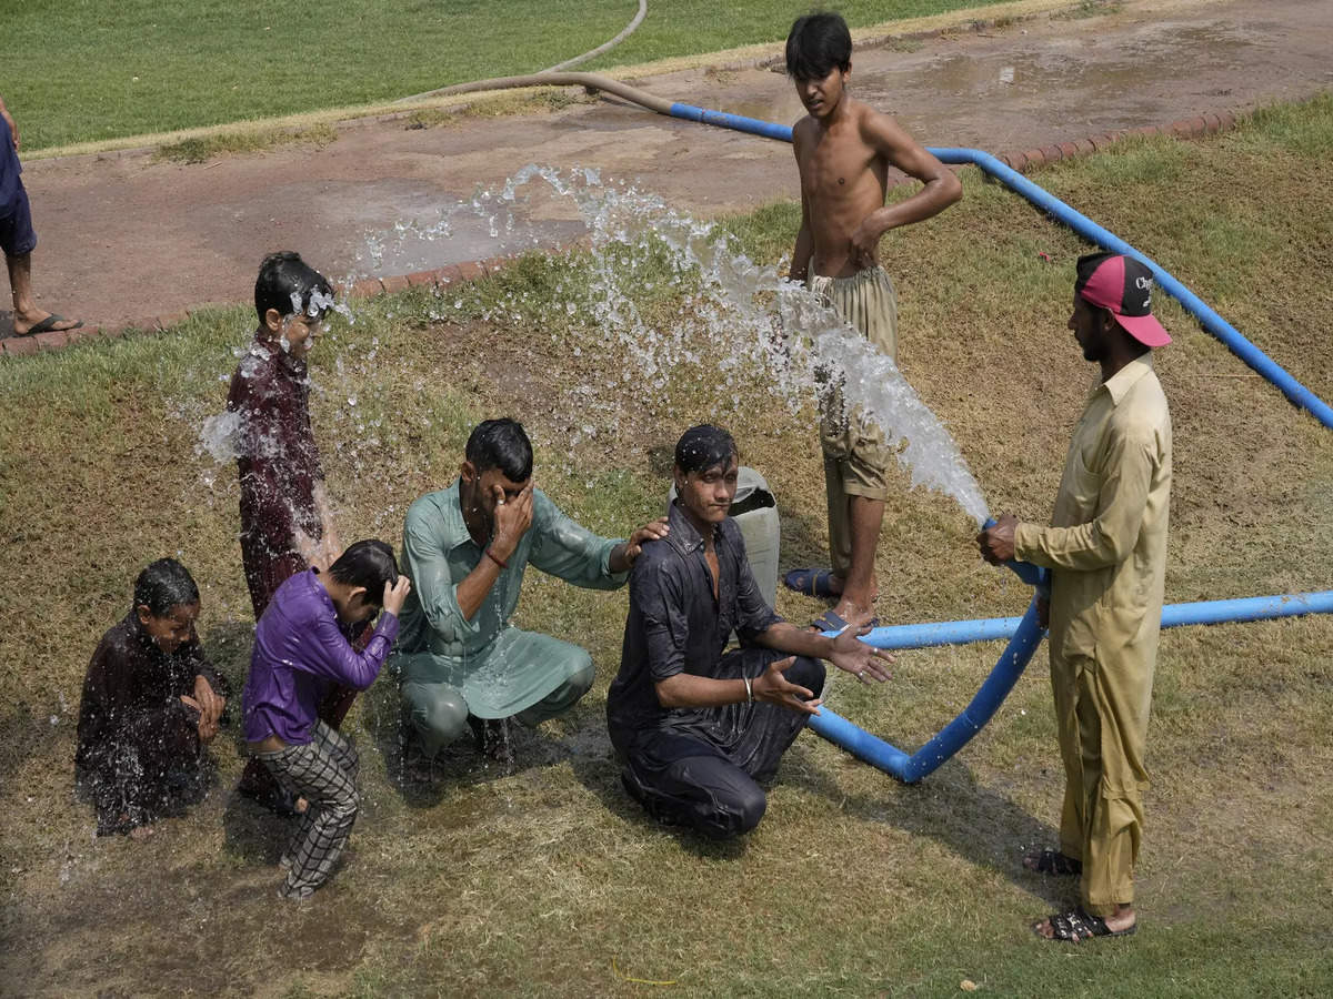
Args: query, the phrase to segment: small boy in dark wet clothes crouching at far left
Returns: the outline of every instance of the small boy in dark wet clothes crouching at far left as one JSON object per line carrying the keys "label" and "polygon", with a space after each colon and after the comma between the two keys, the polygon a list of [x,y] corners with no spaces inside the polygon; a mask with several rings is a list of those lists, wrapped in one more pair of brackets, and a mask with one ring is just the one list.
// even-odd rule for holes
{"label": "small boy in dark wet clothes crouching at far left", "polygon": [[204,747],[227,689],[199,647],[199,610],[185,566],[161,558],[139,574],[135,606],[88,665],[75,773],[97,809],[99,835],[141,838],[207,790]]}

